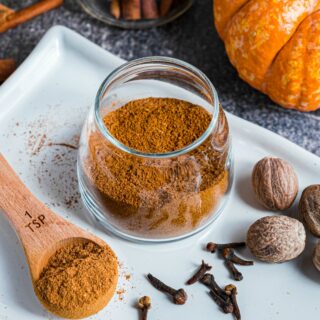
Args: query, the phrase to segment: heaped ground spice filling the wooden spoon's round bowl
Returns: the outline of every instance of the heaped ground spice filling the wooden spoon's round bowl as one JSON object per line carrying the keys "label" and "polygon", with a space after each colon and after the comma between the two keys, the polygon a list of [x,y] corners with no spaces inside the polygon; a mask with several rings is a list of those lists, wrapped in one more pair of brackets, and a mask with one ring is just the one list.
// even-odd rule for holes
{"label": "heaped ground spice filling the wooden spoon's round bowl", "polygon": [[35,284],[40,301],[53,313],[84,318],[103,308],[114,294],[117,259],[109,247],[91,241],[55,252]]}

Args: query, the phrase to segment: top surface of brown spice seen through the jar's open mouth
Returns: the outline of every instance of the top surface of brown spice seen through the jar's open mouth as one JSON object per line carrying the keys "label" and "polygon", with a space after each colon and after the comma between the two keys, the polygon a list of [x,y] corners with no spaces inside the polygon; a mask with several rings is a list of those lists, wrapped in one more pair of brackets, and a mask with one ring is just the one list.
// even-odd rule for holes
{"label": "top surface of brown spice seen through the jar's open mouth", "polygon": [[200,138],[210,121],[205,109],[168,98],[131,101],[104,118],[117,140],[148,153],[165,153],[188,146]]}

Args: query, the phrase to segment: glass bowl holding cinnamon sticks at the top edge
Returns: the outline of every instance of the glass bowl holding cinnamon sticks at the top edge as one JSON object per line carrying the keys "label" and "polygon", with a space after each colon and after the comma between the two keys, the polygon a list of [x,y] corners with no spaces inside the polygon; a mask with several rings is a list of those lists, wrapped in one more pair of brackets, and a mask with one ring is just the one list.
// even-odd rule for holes
{"label": "glass bowl holding cinnamon sticks at the top edge", "polygon": [[82,9],[108,25],[146,29],[171,22],[185,13],[194,0],[78,0]]}

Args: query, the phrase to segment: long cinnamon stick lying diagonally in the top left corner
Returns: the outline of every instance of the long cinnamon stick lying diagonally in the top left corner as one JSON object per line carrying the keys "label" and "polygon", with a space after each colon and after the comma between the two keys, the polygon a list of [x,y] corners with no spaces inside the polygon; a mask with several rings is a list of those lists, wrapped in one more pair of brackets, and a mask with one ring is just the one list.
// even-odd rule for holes
{"label": "long cinnamon stick lying diagonally in the top left corner", "polygon": [[6,14],[4,19],[0,20],[0,32],[14,28],[46,11],[52,10],[62,5],[63,0],[42,0],[27,8]]}

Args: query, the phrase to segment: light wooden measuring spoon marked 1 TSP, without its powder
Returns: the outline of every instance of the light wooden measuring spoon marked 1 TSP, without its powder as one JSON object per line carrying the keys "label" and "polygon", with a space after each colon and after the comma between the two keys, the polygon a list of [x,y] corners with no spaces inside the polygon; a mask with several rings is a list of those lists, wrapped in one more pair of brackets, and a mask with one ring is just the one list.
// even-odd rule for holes
{"label": "light wooden measuring spoon marked 1 TSP, without its powder", "polygon": [[[1,153],[0,211],[4,212],[21,241],[33,285],[39,279],[49,258],[64,245],[89,240],[100,246],[107,246],[103,240],[59,217],[39,201],[22,183]],[[36,290],[35,293],[49,311],[62,317],[82,318],[98,312],[109,302],[117,285],[118,272],[115,274],[110,290],[90,310],[86,307],[86,313],[78,310],[78,314],[72,316],[58,314],[41,299]]]}

